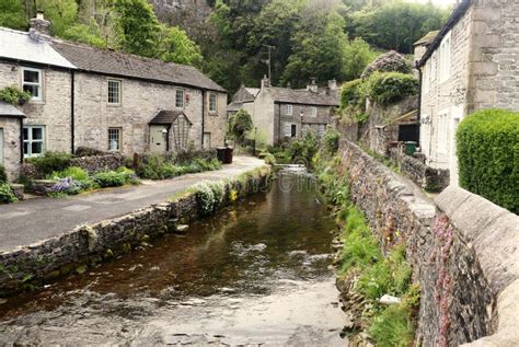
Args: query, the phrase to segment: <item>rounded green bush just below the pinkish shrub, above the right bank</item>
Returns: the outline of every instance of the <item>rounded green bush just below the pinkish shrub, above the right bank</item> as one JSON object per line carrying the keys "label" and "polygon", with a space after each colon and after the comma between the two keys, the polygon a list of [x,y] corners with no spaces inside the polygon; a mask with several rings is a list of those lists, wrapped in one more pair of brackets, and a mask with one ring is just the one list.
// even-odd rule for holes
{"label": "rounded green bush just below the pinkish shrub, above the right bank", "polygon": [[397,102],[418,93],[418,81],[413,74],[376,72],[367,82],[368,96],[379,105]]}

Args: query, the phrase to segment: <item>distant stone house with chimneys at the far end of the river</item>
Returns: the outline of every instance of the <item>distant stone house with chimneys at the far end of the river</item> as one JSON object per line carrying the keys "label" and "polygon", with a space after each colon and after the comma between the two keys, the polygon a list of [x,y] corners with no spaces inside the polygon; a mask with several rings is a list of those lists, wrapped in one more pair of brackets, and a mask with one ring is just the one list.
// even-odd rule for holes
{"label": "distant stone house with chimneys at the far end of the river", "polygon": [[243,108],[251,114],[254,126],[267,144],[277,144],[286,139],[301,138],[305,131],[324,135],[326,126],[333,124],[334,109],[339,106],[335,80],[328,86],[318,88],[315,80],[303,90],[270,86],[262,80],[261,89],[242,86],[228,105],[232,115]]}

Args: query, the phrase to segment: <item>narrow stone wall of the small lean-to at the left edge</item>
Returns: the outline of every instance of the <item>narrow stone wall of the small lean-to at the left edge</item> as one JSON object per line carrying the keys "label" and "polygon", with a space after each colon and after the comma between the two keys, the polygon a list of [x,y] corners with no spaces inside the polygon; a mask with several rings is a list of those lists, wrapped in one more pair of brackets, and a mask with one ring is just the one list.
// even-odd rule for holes
{"label": "narrow stone wall of the small lean-to at the left edge", "polygon": [[3,132],[3,162],[0,164],[4,165],[9,181],[16,180],[20,169],[22,155],[20,122],[20,118],[0,117],[0,129]]}

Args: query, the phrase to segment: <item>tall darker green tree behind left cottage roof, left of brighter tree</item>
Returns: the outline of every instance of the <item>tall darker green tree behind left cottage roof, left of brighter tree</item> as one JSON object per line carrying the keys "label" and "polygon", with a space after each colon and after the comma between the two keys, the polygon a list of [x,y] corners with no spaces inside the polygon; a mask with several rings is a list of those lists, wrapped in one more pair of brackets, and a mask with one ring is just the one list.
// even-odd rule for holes
{"label": "tall darker green tree behind left cottage roof, left of brighter tree", "polygon": [[120,47],[131,54],[155,57],[161,26],[146,0],[115,0],[116,24],[122,32]]}

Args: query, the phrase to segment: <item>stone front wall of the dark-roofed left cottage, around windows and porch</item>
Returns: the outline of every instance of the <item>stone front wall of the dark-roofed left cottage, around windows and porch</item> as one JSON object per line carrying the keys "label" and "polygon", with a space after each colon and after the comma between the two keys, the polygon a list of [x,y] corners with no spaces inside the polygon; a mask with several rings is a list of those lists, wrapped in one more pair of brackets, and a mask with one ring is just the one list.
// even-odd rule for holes
{"label": "stone front wall of the dark-roofed left cottage, around windows and porch", "polygon": [[[108,128],[122,130],[122,153],[132,155],[149,150],[149,122],[160,109],[175,111],[175,91],[180,86],[122,80],[120,105],[108,105],[108,78],[101,74],[76,74],[76,146],[106,151]],[[201,91],[185,91],[183,109],[193,124],[188,142],[201,147]]]}

